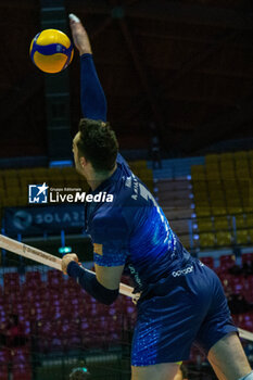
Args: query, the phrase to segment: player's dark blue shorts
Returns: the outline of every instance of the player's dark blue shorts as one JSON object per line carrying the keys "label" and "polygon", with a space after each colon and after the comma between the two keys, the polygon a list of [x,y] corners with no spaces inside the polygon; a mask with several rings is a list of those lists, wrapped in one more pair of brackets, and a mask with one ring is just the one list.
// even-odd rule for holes
{"label": "player's dark blue shorts", "polygon": [[205,354],[224,335],[238,331],[216,274],[192,258],[155,286],[137,304],[131,365],[187,360],[192,343]]}

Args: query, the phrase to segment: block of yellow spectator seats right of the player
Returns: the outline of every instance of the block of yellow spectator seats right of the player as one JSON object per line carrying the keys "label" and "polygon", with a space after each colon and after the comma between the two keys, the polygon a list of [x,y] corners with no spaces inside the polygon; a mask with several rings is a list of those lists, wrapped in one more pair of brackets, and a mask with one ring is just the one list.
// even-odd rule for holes
{"label": "block of yellow spectator seats right of the player", "polygon": [[197,246],[253,243],[252,178],[253,151],[208,154],[191,167]]}

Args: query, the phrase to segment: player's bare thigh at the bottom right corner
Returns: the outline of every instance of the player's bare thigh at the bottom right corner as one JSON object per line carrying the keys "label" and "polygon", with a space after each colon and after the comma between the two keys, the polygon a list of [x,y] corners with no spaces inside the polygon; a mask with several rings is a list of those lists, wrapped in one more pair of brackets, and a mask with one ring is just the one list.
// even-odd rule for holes
{"label": "player's bare thigh at the bottom right corner", "polygon": [[251,371],[236,332],[228,333],[215,343],[207,358],[219,380],[238,380]]}

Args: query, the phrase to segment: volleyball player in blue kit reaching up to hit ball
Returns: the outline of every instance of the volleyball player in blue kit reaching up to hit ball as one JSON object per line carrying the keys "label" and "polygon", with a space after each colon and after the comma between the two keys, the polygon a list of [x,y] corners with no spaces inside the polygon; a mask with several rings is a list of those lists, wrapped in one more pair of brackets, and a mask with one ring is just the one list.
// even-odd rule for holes
{"label": "volleyball player in blue kit reaching up to hit ball", "polygon": [[80,54],[85,117],[73,141],[75,165],[91,194],[113,194],[113,202],[86,206],[96,276],[77,264],[75,254],[63,257],[63,271],[104,304],[116,300],[122,274],[129,273],[141,292],[132,380],[173,380],[193,342],[219,380],[252,380],[217,276],[184,249],[152,194],[117,154],[87,33],[73,15],[71,28]]}

